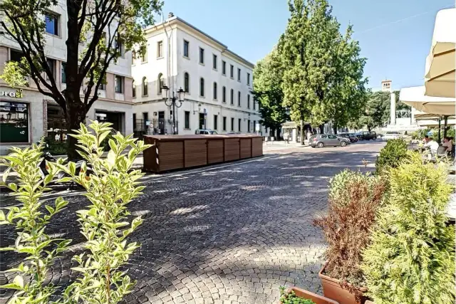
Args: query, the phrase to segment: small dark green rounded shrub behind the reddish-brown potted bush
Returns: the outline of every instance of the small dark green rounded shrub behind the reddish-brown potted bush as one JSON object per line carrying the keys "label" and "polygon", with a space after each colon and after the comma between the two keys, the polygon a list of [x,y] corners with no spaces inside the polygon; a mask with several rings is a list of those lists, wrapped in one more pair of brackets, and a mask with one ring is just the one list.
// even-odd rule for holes
{"label": "small dark green rounded shrub behind the reddish-brown potted bush", "polygon": [[403,159],[408,158],[407,144],[405,140],[388,140],[385,147],[380,150],[380,155],[375,162],[376,174],[382,174],[389,168],[398,167]]}

